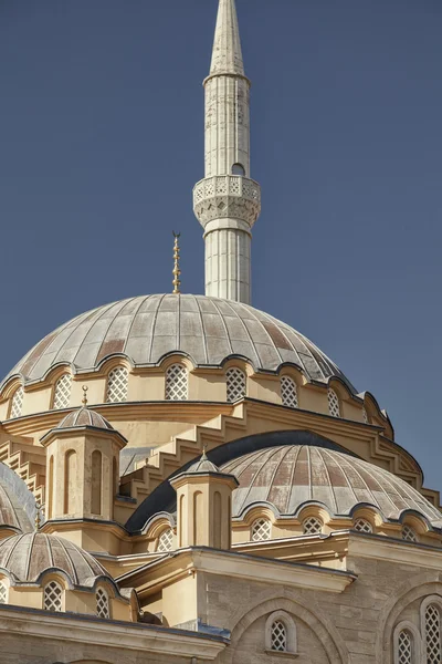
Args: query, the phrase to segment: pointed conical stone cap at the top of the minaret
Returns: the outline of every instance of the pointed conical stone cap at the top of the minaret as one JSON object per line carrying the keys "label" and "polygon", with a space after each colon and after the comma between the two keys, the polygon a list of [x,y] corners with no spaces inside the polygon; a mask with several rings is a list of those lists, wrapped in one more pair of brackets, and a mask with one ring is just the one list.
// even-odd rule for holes
{"label": "pointed conical stone cap at the top of the minaret", "polygon": [[235,0],[220,0],[210,75],[244,75]]}

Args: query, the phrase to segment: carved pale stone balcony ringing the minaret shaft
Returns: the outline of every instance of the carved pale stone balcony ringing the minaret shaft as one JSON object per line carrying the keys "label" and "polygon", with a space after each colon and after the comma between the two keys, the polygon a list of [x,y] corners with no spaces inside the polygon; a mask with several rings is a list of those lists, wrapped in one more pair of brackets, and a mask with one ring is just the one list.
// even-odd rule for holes
{"label": "carved pale stone balcony ringing the minaret shaft", "polygon": [[[208,231],[211,221],[236,220],[250,230],[261,212],[261,187],[238,175],[215,175],[200,180],[193,188],[193,211]],[[230,227],[225,222],[225,227]]]}

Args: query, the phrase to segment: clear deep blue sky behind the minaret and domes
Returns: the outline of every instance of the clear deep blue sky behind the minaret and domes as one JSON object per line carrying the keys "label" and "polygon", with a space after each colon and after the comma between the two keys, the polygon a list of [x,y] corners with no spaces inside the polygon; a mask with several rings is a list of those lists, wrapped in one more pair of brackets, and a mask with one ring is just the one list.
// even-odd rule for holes
{"label": "clear deep blue sky behind the minaret and domes", "polygon": [[[387,408],[442,489],[441,0],[236,0],[253,304]],[[122,298],[203,292],[191,189],[217,0],[0,0],[0,374]]]}

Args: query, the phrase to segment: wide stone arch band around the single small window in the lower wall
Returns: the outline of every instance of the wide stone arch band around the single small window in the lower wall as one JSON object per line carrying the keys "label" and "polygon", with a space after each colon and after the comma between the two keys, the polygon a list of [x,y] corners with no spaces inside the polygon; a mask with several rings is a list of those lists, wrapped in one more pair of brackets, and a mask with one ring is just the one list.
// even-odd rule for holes
{"label": "wide stone arch band around the single small window in the lower wall", "polygon": [[[271,590],[270,592],[274,592]],[[285,593],[292,594],[290,590]],[[253,606],[239,609],[231,616],[231,647],[225,651],[227,662],[232,664],[235,657],[235,651],[244,632],[260,618],[283,611],[294,616],[307,625],[317,636],[319,643],[324,647],[329,657],[329,664],[347,664],[349,660],[347,646],[328,616],[324,616],[319,606],[315,605],[315,613],[306,606],[299,598],[292,596],[270,596],[264,601],[257,600]]]}

